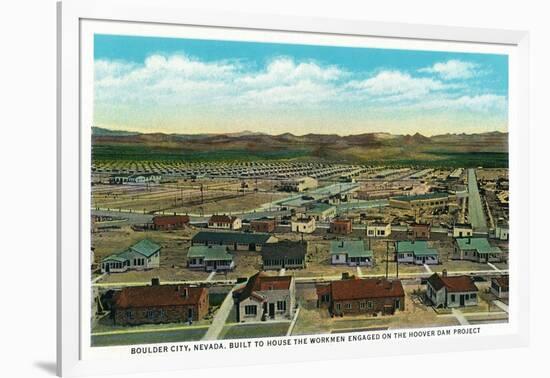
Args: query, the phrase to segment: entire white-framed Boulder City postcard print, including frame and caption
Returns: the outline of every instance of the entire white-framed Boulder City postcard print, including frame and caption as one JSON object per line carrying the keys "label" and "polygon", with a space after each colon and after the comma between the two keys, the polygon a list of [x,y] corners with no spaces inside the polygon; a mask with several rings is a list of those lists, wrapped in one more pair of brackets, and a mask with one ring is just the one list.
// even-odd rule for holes
{"label": "entire white-framed Boulder City postcard print, including frame and caption", "polygon": [[60,375],[526,345],[527,33],[58,15]]}

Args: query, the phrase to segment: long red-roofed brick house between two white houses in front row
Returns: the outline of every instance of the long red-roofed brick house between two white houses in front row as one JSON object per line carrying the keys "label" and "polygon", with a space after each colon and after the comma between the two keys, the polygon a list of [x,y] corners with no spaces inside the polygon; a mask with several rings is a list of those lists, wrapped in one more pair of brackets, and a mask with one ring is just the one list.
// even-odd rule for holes
{"label": "long red-roofed brick house between two white houses in front row", "polygon": [[352,278],[317,285],[317,304],[333,316],[394,314],[405,310],[405,291],[399,280]]}

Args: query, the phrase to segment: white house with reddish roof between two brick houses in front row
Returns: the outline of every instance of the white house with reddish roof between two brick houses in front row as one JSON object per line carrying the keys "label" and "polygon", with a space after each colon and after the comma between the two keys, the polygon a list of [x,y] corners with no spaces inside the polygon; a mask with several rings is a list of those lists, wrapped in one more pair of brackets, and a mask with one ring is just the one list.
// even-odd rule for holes
{"label": "white house with reddish roof between two brick houses in front row", "polygon": [[296,309],[296,284],[292,276],[256,273],[233,291],[240,323],[289,320]]}

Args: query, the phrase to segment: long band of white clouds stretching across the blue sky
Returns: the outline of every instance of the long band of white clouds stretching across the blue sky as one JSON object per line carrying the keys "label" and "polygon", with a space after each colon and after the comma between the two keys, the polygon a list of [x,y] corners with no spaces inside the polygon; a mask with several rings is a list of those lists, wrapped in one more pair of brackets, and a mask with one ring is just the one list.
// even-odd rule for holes
{"label": "long band of white clouds stretching across the blue sky", "polygon": [[[235,107],[254,111],[259,105],[292,112],[313,104],[327,109],[345,104],[391,111],[400,107],[475,112],[505,109],[503,96],[460,97],[462,84],[446,81],[458,75],[457,65],[450,62],[430,68],[439,70],[445,79],[441,80],[397,70],[361,79],[357,78],[359,73],[350,79],[351,74],[340,67],[287,57],[254,70],[236,61],[201,61],[181,54],[155,54],[142,64],[97,60],[95,100],[112,113],[125,105],[127,109],[151,109],[159,115],[173,109],[186,111],[193,105],[225,112]],[[454,73],[449,67],[455,67]]]}

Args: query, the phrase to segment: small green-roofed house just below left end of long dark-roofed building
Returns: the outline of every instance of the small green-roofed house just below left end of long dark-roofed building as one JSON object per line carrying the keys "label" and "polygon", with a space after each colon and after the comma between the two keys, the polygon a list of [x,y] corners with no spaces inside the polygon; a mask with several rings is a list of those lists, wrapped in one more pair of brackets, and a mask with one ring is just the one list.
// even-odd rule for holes
{"label": "small green-roofed house just below left end of long dark-roofed building", "polygon": [[207,272],[232,270],[235,267],[233,255],[225,245],[194,245],[187,252],[187,267],[201,268]]}

